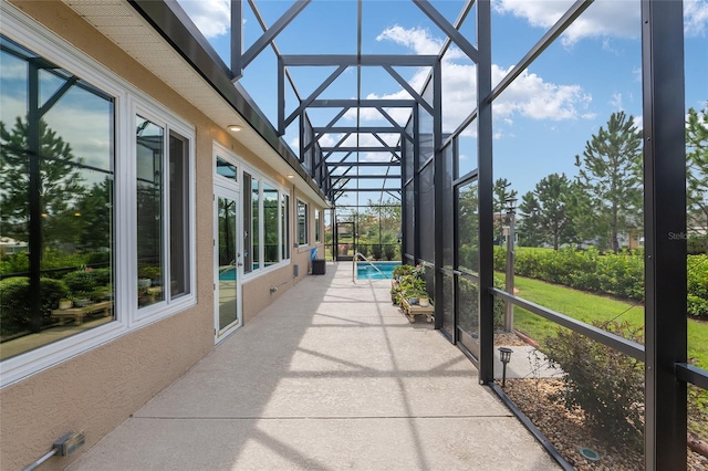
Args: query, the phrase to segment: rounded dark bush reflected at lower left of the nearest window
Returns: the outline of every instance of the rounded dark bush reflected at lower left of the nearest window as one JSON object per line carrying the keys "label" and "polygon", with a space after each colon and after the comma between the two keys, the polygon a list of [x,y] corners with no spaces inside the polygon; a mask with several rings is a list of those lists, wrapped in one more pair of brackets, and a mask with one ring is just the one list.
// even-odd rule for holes
{"label": "rounded dark bush reflected at lower left of the nearest window", "polygon": [[[59,300],[69,295],[66,285],[60,280],[40,279],[40,312],[42,325],[52,324],[51,310]],[[31,331],[30,279],[13,276],[0,281],[0,335],[3,337]]]}

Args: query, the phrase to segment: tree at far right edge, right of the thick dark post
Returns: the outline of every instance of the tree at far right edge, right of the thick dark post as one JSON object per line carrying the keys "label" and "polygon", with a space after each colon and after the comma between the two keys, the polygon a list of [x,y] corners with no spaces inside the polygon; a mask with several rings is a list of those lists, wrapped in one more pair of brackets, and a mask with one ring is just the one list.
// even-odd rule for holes
{"label": "tree at far right edge, right of the thick dark post", "polygon": [[[686,117],[686,197],[689,229],[708,231],[708,104],[700,112],[688,108]],[[708,238],[706,239],[708,252]]]}

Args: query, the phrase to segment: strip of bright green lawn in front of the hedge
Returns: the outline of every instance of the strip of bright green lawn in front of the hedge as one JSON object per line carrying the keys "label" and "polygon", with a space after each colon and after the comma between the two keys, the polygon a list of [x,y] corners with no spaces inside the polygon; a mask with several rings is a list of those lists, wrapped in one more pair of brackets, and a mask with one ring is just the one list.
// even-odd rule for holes
{"label": "strip of bright green lawn in front of the hedge", "polygon": [[[627,321],[644,325],[644,305],[590,294],[556,284],[517,276],[518,295],[524,300],[589,323],[593,320]],[[618,317],[617,317],[618,316]],[[558,325],[520,307],[514,307],[514,327],[540,342],[554,336]],[[708,368],[708,322],[688,320],[688,356]]]}

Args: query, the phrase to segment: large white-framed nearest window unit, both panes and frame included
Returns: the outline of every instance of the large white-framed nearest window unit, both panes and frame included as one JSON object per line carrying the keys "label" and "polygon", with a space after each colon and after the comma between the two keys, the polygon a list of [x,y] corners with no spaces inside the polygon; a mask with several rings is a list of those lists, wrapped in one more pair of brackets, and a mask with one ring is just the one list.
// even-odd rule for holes
{"label": "large white-framed nearest window unit, both panes and frame included", "polygon": [[1,27],[27,45],[0,35],[0,387],[195,303],[194,128],[23,21]]}

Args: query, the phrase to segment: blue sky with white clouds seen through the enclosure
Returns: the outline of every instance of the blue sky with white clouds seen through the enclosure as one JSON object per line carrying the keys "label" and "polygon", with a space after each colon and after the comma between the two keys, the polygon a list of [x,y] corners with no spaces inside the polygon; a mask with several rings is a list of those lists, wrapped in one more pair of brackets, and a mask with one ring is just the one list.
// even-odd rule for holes
{"label": "blue sky with white clouds seen through the enclosure", "polygon": [[[230,1],[179,0],[192,21],[229,63]],[[430,1],[454,22],[461,0]],[[573,4],[572,0],[492,1],[492,83],[513,69],[548,29]],[[257,0],[267,24],[273,24],[292,1]],[[585,142],[605,125],[614,112],[624,111],[642,126],[642,54],[638,0],[596,0],[492,105],[494,178],[507,178],[520,195],[533,189],[552,172],[576,175],[575,156]],[[244,49],[261,34],[258,20],[243,2]],[[412,1],[365,0],[362,4],[363,54],[437,54],[445,34]],[[685,0],[686,107],[704,108],[708,102],[708,0]],[[461,33],[476,43],[476,7]],[[356,54],[357,4],[347,0],[314,0],[275,39],[282,54]],[[423,67],[395,67],[416,90],[429,73]],[[291,70],[302,96],[308,96],[334,67]],[[270,49],[261,52],[243,71],[241,84],[272,123],[277,123],[277,63]],[[355,98],[356,70],[344,72],[320,96]],[[379,67],[364,67],[362,98],[409,98],[408,93]],[[444,130],[457,128],[475,109],[475,64],[452,46],[442,61]],[[295,107],[287,95],[285,114]],[[324,125],[334,112],[313,113],[315,125]],[[394,114],[405,123],[407,113]],[[355,125],[348,114],[342,125]],[[383,125],[371,109],[361,124]],[[475,125],[460,140],[460,174],[475,168]],[[298,148],[298,126],[290,126],[284,139]],[[335,142],[335,137],[329,139]],[[325,140],[323,144],[327,144]],[[362,137],[362,145],[366,138]],[[363,160],[388,159],[379,154]]]}

